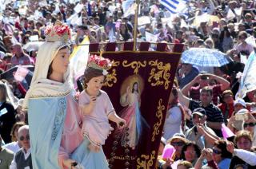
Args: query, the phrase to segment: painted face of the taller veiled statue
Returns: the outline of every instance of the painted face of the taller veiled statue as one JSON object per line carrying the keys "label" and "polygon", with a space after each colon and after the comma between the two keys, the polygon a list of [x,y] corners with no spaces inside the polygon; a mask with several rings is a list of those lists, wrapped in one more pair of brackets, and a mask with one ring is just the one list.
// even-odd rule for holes
{"label": "painted face of the taller veiled statue", "polygon": [[64,73],[66,73],[68,66],[70,64],[69,57],[70,57],[69,48],[66,47],[65,49],[60,49],[56,57],[54,57],[54,61],[52,62],[53,73],[64,75]]}

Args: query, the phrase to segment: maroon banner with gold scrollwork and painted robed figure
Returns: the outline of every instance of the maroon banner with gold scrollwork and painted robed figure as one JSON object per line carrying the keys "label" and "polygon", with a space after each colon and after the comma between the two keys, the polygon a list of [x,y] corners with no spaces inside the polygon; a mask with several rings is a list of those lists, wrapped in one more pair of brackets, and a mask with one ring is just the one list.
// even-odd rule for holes
{"label": "maroon banner with gold scrollwork and painted robed figure", "polygon": [[181,53],[105,52],[112,61],[102,89],[126,128],[114,124],[103,149],[110,168],[154,168]]}

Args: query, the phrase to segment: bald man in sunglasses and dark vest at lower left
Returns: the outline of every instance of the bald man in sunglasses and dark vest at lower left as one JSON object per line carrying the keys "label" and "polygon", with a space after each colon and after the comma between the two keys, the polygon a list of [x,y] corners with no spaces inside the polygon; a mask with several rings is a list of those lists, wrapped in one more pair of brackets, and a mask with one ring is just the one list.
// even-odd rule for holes
{"label": "bald man in sunglasses and dark vest at lower left", "polygon": [[18,129],[18,140],[22,143],[22,148],[14,155],[10,164],[10,169],[32,168],[32,159],[30,151],[29,126],[24,125]]}

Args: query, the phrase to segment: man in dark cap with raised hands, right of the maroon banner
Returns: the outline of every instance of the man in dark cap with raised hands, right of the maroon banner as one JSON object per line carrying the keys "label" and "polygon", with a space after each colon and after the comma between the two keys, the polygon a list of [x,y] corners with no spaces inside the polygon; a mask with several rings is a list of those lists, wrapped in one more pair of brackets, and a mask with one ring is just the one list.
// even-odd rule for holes
{"label": "man in dark cap with raised hands, right of the maroon banner", "polygon": [[195,108],[192,112],[194,126],[186,132],[186,139],[193,140],[201,149],[213,147],[214,141],[218,140],[215,132],[207,127],[206,118],[204,108]]}

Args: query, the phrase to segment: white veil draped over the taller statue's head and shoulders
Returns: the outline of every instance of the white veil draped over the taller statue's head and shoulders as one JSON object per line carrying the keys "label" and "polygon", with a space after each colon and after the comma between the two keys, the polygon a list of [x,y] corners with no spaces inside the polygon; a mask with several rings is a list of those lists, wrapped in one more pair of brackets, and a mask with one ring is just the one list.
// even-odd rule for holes
{"label": "white veil draped over the taller statue's head and shoulders", "polygon": [[28,108],[29,98],[66,96],[71,91],[73,85],[70,81],[70,68],[68,68],[64,75],[64,83],[47,79],[47,73],[51,62],[54,60],[58,50],[65,46],[69,45],[64,41],[46,41],[40,46],[35,64],[34,76],[30,84],[30,89],[26,92],[24,104],[22,106],[23,109]]}

